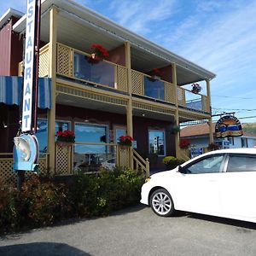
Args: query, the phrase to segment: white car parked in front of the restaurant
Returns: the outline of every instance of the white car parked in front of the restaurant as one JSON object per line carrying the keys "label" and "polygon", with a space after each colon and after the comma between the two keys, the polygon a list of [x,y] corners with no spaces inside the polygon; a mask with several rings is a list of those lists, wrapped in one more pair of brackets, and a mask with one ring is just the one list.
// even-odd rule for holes
{"label": "white car parked in front of the restaurant", "polygon": [[256,222],[256,148],[201,154],[143,184],[143,204],[163,217],[175,210]]}

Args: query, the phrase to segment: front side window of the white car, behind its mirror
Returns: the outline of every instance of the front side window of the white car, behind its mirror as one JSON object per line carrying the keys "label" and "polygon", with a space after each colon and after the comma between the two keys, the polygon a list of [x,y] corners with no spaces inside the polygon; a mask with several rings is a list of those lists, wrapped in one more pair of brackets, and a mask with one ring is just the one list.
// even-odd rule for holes
{"label": "front side window of the white car, behind its mirror", "polygon": [[201,173],[215,173],[220,172],[221,164],[224,160],[223,154],[212,155],[210,157],[204,158],[195,162],[195,164],[190,164],[185,167],[185,173],[191,174],[201,174]]}

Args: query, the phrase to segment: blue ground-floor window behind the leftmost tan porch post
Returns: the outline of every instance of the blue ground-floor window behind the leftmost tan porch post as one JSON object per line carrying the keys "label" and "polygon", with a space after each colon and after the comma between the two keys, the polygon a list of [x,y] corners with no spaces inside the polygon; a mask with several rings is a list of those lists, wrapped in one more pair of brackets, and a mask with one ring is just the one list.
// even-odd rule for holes
{"label": "blue ground-floor window behind the leftmost tan porch post", "polygon": [[[70,126],[69,122],[56,120],[55,122],[55,133],[57,131],[68,130]],[[47,119],[38,119],[38,131],[36,133],[38,137],[39,152],[40,154],[47,152],[47,143],[48,143],[48,120]]]}

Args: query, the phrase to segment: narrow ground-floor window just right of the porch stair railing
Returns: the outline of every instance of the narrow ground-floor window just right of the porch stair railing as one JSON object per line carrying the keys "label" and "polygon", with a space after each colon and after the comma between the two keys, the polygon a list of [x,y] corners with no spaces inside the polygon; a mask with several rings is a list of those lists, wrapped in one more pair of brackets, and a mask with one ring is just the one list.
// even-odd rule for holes
{"label": "narrow ground-floor window just right of the porch stair railing", "polygon": [[149,154],[166,155],[165,131],[149,130]]}

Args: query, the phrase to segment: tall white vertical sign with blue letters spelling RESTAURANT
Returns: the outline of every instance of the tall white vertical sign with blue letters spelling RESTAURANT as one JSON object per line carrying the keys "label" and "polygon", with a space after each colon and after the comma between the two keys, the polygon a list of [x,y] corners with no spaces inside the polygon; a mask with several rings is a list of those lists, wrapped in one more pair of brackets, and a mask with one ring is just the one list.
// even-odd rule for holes
{"label": "tall white vertical sign with blue letters spelling RESTAURANT", "polygon": [[26,2],[26,44],[22,104],[22,131],[31,131],[32,129],[36,1],[37,0],[27,0]]}

